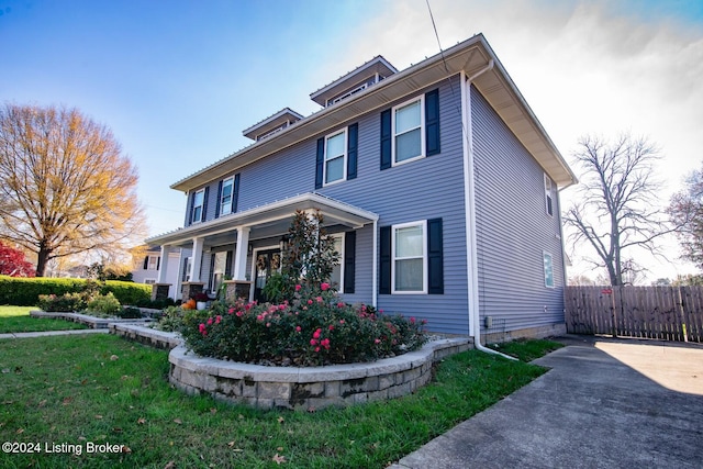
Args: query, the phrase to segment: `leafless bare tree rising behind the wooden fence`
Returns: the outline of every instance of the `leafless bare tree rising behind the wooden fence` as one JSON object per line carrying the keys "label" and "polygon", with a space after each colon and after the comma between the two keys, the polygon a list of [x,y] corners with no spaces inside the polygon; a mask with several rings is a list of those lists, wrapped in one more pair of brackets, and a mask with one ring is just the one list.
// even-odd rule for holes
{"label": "leafless bare tree rising behind the wooden fence", "polygon": [[[574,158],[584,170],[579,201],[567,212],[574,245],[585,243],[605,267],[612,286],[641,271],[625,254],[636,248],[660,256],[657,238],[671,233],[659,208],[660,183],[654,178],[658,148],[646,138],[622,134],[615,141],[584,136]],[[629,275],[627,275],[629,273]]]}

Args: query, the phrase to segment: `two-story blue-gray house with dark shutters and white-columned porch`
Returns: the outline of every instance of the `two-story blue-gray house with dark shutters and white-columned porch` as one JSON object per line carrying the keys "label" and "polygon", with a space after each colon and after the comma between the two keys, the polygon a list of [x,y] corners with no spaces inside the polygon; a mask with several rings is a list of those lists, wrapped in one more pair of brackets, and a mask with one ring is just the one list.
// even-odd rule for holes
{"label": "two-story blue-gray house with dark shutters and white-columned porch", "polygon": [[401,71],[378,56],[311,98],[323,109],[286,108],[174,183],[185,226],[147,243],[191,249],[207,289],[252,280],[255,300],[294,211],[319,209],[347,302],[473,336],[563,324],[558,191],[576,177],[482,35]]}

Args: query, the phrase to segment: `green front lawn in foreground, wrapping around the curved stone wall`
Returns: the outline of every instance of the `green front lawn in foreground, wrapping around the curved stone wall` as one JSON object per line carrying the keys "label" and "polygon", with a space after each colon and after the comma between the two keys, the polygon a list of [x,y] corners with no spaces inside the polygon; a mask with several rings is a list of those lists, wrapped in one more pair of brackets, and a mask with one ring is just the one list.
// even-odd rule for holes
{"label": "green front lawn in foreground, wrapping around the curved stone wall", "polygon": [[[0,442],[38,444],[0,467],[382,468],[545,372],[469,350],[415,394],[308,413],[189,397],[168,369],[167,351],[115,336],[0,340]],[[87,454],[105,443],[129,449]],[[62,444],[81,454],[46,453]]]}

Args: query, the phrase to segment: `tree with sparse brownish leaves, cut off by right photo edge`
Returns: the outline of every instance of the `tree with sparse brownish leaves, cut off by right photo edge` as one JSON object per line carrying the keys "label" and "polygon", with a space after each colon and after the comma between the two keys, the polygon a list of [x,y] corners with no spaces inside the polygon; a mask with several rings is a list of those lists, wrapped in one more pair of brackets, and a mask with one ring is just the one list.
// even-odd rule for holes
{"label": "tree with sparse brownish leaves, cut off by right photo edge", "polygon": [[689,175],[685,189],[671,198],[671,221],[680,226],[683,258],[703,269],[703,167]]}

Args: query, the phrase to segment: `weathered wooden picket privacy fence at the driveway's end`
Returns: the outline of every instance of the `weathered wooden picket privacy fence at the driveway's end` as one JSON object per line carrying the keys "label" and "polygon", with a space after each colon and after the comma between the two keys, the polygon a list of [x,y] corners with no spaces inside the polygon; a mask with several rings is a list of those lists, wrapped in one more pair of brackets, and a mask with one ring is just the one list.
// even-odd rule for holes
{"label": "weathered wooden picket privacy fence at the driveway's end", "polygon": [[703,343],[703,287],[567,287],[567,332]]}

